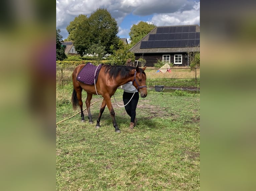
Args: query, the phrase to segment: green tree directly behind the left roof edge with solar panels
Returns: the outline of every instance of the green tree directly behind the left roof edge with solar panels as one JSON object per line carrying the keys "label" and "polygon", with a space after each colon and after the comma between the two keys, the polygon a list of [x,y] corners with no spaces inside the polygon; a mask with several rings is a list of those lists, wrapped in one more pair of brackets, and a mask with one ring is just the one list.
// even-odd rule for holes
{"label": "green tree directly behind the left roof edge with solar panels", "polygon": [[156,25],[143,21],[140,21],[137,25],[132,25],[131,31],[129,32],[131,45],[134,46],[155,27]]}

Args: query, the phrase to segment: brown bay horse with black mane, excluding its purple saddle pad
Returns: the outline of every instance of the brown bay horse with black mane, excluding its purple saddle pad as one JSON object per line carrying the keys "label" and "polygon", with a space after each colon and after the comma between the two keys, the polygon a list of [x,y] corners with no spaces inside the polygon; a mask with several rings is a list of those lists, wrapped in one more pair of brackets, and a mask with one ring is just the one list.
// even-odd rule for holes
{"label": "brown bay horse with black mane, excluding its purple saddle pad", "polygon": [[98,80],[96,82],[96,90],[97,90],[96,92],[95,85],[87,85],[77,81],[77,76],[84,66],[85,64],[81,64],[77,66],[72,75],[73,85],[74,85],[74,90],[72,94],[73,108],[76,109],[78,105],[80,106],[82,121],[85,121],[84,112],[83,112],[83,101],[82,101],[82,90],[85,90],[87,92],[87,98],[85,103],[87,107],[89,123],[93,124],[93,119],[90,111],[91,99],[93,94],[102,95],[103,101],[102,101],[100,113],[97,119],[96,129],[100,127],[101,116],[107,105],[110,115],[112,117],[112,122],[115,128],[115,132],[120,133],[121,131],[118,128],[118,125],[116,123],[115,111],[113,109],[110,98],[112,95],[115,94],[119,86],[124,85],[131,81],[133,82],[133,86],[135,86],[135,88],[139,91],[140,96],[146,97],[147,86],[146,86],[146,74],[144,72],[146,67],[141,69],[138,66],[135,68],[131,66],[111,66],[111,65],[103,64],[98,75]]}

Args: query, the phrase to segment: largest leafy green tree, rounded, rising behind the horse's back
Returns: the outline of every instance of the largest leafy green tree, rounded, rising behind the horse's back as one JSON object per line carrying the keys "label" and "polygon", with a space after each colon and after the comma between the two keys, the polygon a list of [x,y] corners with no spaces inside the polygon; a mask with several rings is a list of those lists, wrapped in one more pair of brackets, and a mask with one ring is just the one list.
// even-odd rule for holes
{"label": "largest leafy green tree, rounded, rising behind the horse's back", "polygon": [[74,41],[76,51],[83,56],[92,44],[105,47],[106,53],[111,54],[110,46],[117,49],[119,38],[117,36],[117,21],[111,17],[107,9],[97,9],[87,18],[79,15],[67,27],[69,37]]}

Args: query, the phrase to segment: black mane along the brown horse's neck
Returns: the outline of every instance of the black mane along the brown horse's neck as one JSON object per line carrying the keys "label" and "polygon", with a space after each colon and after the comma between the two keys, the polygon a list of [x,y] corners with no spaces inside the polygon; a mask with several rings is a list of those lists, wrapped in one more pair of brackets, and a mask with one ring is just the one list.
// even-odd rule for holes
{"label": "black mane along the brown horse's neck", "polygon": [[106,68],[105,69],[105,75],[109,74],[110,78],[114,77],[114,79],[118,75],[120,75],[122,78],[128,78],[128,77],[130,77],[130,71],[132,69],[136,69],[135,67],[132,67],[132,66],[103,65],[102,67]]}

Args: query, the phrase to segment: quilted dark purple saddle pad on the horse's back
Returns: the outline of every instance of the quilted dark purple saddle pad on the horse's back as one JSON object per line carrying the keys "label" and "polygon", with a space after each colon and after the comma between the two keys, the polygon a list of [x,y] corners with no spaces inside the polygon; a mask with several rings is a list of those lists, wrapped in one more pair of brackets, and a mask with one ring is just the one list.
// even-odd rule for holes
{"label": "quilted dark purple saddle pad on the horse's back", "polygon": [[[77,76],[77,81],[83,82],[84,84],[94,85],[94,79],[95,79],[95,83],[96,83],[98,80],[101,66],[102,66],[102,64],[100,64],[99,66],[94,66],[90,62],[86,63],[84,68],[82,68],[82,70],[79,72],[79,74]],[[96,71],[96,73],[95,73],[95,71]]]}

